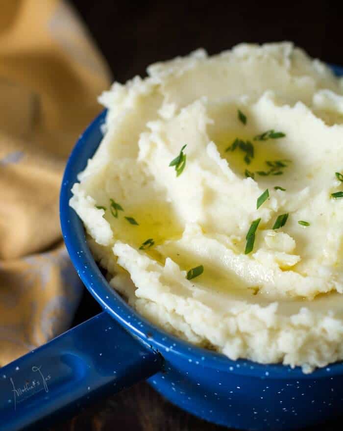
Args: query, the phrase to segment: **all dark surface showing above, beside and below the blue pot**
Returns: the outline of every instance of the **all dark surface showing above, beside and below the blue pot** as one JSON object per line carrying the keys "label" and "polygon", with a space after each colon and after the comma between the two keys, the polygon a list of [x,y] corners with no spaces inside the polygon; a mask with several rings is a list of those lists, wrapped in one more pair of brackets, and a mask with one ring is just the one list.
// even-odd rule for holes
{"label": "all dark surface showing above, beside and below the blue pot", "polygon": [[[115,80],[145,75],[147,65],[203,47],[210,54],[241,42],[290,40],[311,56],[343,65],[343,6],[335,1],[73,0]],[[85,292],[74,324],[99,311]],[[81,411],[53,431],[224,430],[172,406],[145,382]],[[316,431],[339,431],[325,424]],[[287,430],[285,430],[287,431]],[[310,431],[310,430],[308,430]],[[314,430],[311,430],[314,431]]]}

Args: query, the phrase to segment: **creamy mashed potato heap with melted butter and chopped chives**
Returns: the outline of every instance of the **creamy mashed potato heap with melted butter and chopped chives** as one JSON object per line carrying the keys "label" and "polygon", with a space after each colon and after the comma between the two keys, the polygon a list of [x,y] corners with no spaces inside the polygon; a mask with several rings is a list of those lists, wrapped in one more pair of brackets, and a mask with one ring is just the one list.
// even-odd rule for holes
{"label": "creamy mashed potato heap with melted butter and chopped chives", "polygon": [[291,43],[198,50],[102,94],[71,206],[111,285],[232,359],[343,359],[343,85]]}

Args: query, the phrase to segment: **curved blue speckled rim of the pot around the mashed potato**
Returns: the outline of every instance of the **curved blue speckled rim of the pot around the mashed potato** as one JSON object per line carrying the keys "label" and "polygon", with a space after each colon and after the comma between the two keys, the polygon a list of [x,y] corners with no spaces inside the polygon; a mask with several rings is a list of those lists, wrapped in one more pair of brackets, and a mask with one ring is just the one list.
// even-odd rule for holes
{"label": "curved blue speckled rim of the pot around the mashed potato", "polygon": [[[330,65],[330,68],[337,76],[343,76],[343,67]],[[304,374],[298,366],[291,368],[282,363],[261,364],[247,359],[232,360],[221,353],[195,346],[149,322],[109,285],[88,247],[82,221],[69,206],[71,187],[77,182],[77,174],[84,170],[103,137],[101,129],[106,112],[102,111],[79,136],[67,161],[60,193],[60,221],[67,250],[79,277],[102,308],[124,328],[158,349],[162,355],[167,351],[169,354],[182,356],[195,365],[217,368],[228,373],[257,375],[266,379],[318,379],[343,374],[343,361]]]}

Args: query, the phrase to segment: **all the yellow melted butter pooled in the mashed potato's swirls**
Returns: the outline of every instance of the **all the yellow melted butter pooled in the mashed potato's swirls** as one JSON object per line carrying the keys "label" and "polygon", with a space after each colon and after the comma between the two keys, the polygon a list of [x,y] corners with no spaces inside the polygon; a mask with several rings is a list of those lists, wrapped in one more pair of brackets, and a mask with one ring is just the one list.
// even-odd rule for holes
{"label": "all the yellow melted butter pooled in the mashed potato's swirls", "polygon": [[[241,177],[246,177],[245,171],[254,173],[255,180],[263,182],[267,186],[283,186],[283,179],[289,177],[294,163],[291,161],[291,154],[287,152],[286,138],[269,139],[266,141],[254,140],[255,134],[247,134],[244,130],[221,132],[211,134],[211,140],[217,145],[221,157],[225,158],[230,168]],[[234,141],[239,138],[246,142],[249,141],[253,147],[253,156],[246,152],[238,145],[234,151],[230,149]],[[245,156],[249,155],[249,163]],[[258,172],[269,172],[270,166],[267,161],[284,161],[286,166],[275,169],[274,172],[282,172],[281,175],[268,176],[259,175]],[[139,191],[138,191],[139,193]],[[115,198],[115,197],[114,197]],[[265,292],[261,292],[262,286],[248,286],[247,283],[238,277],[235,273],[223,273],[219,267],[213,265],[213,262],[206,264],[199,256],[185,253],[175,248],[167,247],[164,253],[163,244],[167,241],[177,241],[181,238],[183,226],[180,223],[177,214],[172,208],[171,203],[165,201],[147,202],[144,204],[125,204],[120,202],[124,211],[118,211],[118,218],[113,217],[109,207],[107,208],[105,218],[110,223],[115,238],[139,249],[148,239],[153,240],[153,245],[145,246],[144,253],[152,259],[165,264],[166,257],[170,257],[177,263],[181,270],[189,271],[196,266],[203,265],[204,272],[199,277],[193,279],[199,287],[213,291],[219,294],[229,295],[232,299],[246,300],[251,303],[269,304],[270,300],[278,298],[269,297]],[[132,217],[138,225],[130,224],[126,217]],[[162,246],[162,247],[158,247]],[[160,249],[160,250],[158,250]],[[172,250],[173,249],[173,250]],[[301,300],[290,299],[292,308]],[[294,304],[295,303],[295,304]],[[287,308],[287,306],[286,306]]]}

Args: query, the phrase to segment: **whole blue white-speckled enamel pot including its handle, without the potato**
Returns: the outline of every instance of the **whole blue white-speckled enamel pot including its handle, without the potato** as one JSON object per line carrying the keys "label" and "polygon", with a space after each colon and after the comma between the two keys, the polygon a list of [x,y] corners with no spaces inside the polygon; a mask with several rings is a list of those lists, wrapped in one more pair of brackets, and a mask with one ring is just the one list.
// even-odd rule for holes
{"label": "whole blue white-speckled enamel pot including its handle, without the potato", "polygon": [[0,370],[0,429],[37,430],[143,379],[176,406],[230,428],[293,430],[341,415],[342,362],[305,375],[280,364],[232,361],[155,327],[109,286],[69,206],[71,186],[101,141],[105,115],[76,143],[60,197],[73,265],[104,311]]}

